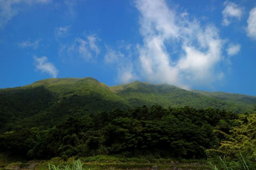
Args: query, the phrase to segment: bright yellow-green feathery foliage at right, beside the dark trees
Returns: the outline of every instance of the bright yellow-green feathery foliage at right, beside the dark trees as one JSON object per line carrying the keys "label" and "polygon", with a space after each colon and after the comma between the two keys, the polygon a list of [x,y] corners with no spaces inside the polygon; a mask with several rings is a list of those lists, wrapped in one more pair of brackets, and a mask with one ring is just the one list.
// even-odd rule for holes
{"label": "bright yellow-green feathery foliage at right, beside the dark trees", "polygon": [[247,158],[256,156],[256,114],[240,114],[231,121],[229,133],[215,131],[221,139],[221,146],[208,150],[208,156],[226,155],[227,158],[238,158],[241,152]]}

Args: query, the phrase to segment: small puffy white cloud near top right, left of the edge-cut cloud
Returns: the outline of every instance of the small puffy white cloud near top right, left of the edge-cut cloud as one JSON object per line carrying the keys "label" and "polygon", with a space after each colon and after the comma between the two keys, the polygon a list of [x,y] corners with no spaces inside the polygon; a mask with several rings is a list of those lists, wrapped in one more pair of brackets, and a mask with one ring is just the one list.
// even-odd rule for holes
{"label": "small puffy white cloud near top right, left of the edge-cut cloud", "polygon": [[233,18],[236,18],[238,20],[241,19],[242,16],[242,8],[239,7],[237,4],[229,1],[224,2],[224,10],[222,11],[223,20],[222,25],[228,26],[231,23],[231,20]]}

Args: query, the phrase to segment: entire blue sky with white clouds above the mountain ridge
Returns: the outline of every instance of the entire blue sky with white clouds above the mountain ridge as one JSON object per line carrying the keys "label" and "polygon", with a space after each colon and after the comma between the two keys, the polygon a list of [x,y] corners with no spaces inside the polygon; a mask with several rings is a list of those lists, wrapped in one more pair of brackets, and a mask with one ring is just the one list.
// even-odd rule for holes
{"label": "entire blue sky with white clouds above the mountain ridge", "polygon": [[0,0],[0,76],[256,96],[256,1]]}

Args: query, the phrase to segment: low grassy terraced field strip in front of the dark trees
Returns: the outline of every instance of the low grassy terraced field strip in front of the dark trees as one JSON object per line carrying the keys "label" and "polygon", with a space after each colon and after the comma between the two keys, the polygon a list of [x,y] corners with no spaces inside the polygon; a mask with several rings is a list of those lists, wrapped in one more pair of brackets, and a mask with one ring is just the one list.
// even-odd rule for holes
{"label": "low grassy terraced field strip in front of the dark trees", "polygon": [[[34,160],[27,163],[11,163],[4,167],[4,170],[48,170],[48,164],[56,167],[60,164],[72,164],[75,158],[64,161],[61,158],[53,158],[47,161]],[[174,159],[155,159],[151,156],[141,158],[125,158],[119,156],[92,156],[80,158],[85,170],[209,170],[205,160],[174,160]]]}

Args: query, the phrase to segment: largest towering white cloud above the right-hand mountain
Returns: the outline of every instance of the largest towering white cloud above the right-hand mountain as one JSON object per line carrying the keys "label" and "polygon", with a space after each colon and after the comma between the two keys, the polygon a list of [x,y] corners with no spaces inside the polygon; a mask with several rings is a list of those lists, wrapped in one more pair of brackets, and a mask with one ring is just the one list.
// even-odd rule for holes
{"label": "largest towering white cloud above the right-hand mountain", "polygon": [[[211,85],[224,77],[218,64],[224,60],[225,41],[215,26],[201,26],[188,13],[169,8],[164,0],[137,0],[135,4],[141,13],[143,45],[137,49],[144,79],[188,88]],[[172,47],[180,51],[174,53]]]}

